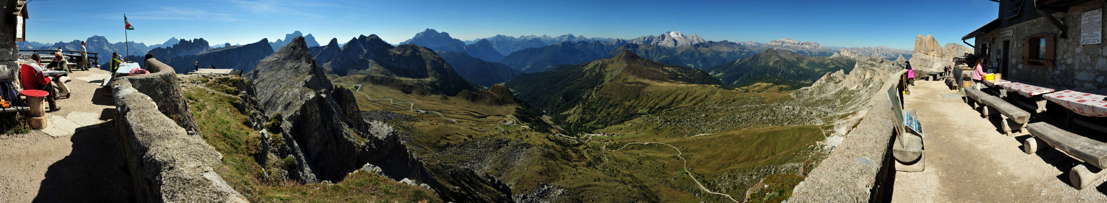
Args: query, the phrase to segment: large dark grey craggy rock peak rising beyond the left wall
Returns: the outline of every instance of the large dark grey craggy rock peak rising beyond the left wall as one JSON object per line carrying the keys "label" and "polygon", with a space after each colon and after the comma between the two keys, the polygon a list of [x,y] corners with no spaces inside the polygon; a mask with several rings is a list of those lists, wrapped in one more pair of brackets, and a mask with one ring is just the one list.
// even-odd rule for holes
{"label": "large dark grey craggy rock peak rising beyond the left wall", "polygon": [[251,118],[254,128],[284,140],[263,153],[269,159],[293,157],[297,169],[289,177],[304,182],[342,180],[366,163],[396,180],[427,180],[397,132],[383,124],[366,124],[353,94],[332,87],[325,75],[303,38],[293,39],[245,75],[241,104],[260,113]]}

